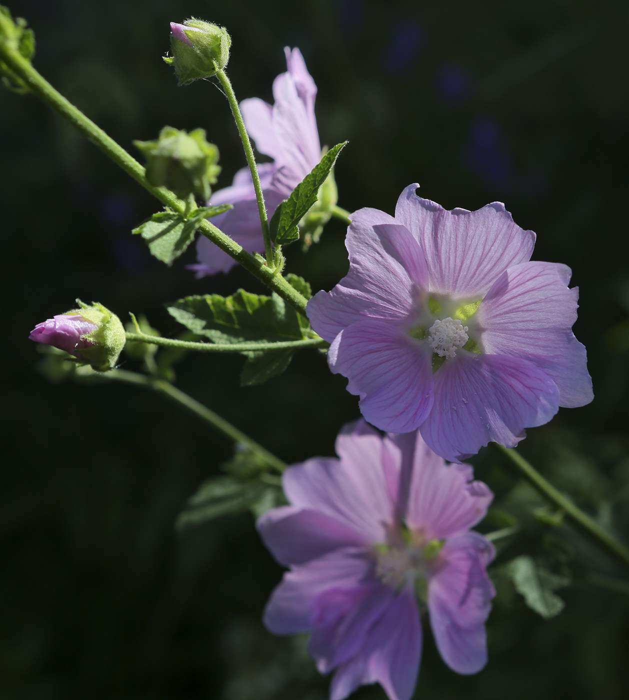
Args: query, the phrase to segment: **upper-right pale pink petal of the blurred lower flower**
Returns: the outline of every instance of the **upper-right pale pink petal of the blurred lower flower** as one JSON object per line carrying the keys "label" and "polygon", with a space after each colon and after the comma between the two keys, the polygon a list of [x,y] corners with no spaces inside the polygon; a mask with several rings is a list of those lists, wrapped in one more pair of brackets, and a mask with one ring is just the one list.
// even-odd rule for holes
{"label": "upper-right pale pink petal of the blurred lower flower", "polygon": [[446,465],[417,435],[406,520],[428,540],[453,537],[481,521],[493,499],[483,482],[470,482],[469,465]]}

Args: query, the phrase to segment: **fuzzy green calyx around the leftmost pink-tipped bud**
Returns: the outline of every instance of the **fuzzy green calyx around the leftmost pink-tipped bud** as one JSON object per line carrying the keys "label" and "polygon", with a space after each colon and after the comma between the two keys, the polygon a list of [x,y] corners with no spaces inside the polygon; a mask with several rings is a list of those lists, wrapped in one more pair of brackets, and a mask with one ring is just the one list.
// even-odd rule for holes
{"label": "fuzzy green calyx around the leftmost pink-tipped bud", "polygon": [[70,311],[65,312],[66,315],[78,314],[78,316],[83,316],[83,318],[87,318],[87,321],[97,325],[95,330],[92,330],[89,335],[85,335],[85,339],[90,340],[94,345],[82,348],[81,356],[87,358],[92,369],[97,372],[112,370],[118,362],[118,357],[126,342],[125,328],[120,322],[120,318],[97,302],[90,305],[77,299],[76,303],[80,308],[70,309]]}

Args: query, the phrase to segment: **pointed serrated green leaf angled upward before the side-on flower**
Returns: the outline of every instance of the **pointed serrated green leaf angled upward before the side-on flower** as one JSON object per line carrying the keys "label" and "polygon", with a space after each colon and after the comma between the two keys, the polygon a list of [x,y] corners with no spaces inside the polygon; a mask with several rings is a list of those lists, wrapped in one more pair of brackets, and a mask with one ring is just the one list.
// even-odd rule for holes
{"label": "pointed serrated green leaf angled upward before the side-on flower", "polygon": [[299,221],[316,204],[319,188],[327,179],[341,148],[346,143],[347,141],[344,141],[343,144],[337,144],[331,148],[313,167],[312,171],[292,190],[288,200],[281,202],[275,210],[269,224],[271,241],[274,244],[286,244],[299,239]]}

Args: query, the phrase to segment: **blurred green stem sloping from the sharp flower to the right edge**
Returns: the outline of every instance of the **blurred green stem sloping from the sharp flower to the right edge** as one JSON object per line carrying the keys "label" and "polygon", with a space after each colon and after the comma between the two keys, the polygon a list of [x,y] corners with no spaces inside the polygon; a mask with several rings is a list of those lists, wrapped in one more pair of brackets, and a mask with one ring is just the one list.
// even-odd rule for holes
{"label": "blurred green stem sloping from the sharp flower to the right edge", "polygon": [[625,566],[629,566],[629,549],[622,542],[616,540],[613,535],[607,532],[605,528],[602,528],[598,522],[581,510],[581,508],[574,505],[572,500],[564,496],[553,484],[546,481],[516,449],[504,447],[496,442],[492,442],[491,446],[499,451],[500,454],[509,458],[518,473],[534,486],[549,503],[563,510],[565,517],[569,518],[584,535],[600,545],[609,554],[612,554],[617,561],[620,561]]}

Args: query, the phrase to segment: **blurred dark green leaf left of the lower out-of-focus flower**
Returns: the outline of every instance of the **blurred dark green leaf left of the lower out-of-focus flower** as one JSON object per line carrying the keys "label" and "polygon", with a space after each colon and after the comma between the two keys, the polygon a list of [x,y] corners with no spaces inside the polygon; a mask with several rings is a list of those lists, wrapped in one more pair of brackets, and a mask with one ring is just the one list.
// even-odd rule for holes
{"label": "blurred dark green leaf left of the lower out-of-focus flower", "polygon": [[250,510],[269,489],[260,481],[239,482],[233,477],[208,479],[188,500],[176,519],[176,528],[181,530],[198,525],[222,515],[235,515]]}

